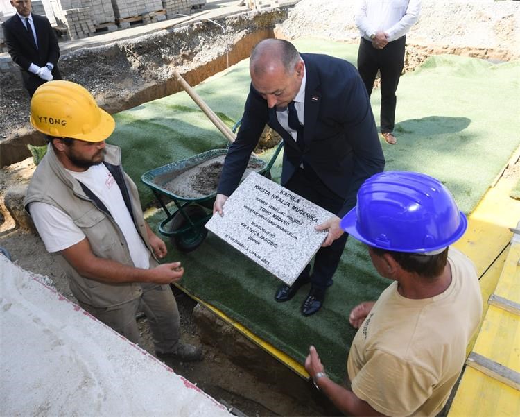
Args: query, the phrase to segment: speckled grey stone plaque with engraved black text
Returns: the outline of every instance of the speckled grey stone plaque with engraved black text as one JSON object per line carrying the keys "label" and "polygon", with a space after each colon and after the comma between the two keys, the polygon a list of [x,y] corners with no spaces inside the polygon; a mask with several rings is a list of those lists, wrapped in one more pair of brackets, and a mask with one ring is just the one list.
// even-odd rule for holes
{"label": "speckled grey stone plaque with engraved black text", "polygon": [[291,285],[327,237],[314,226],[331,216],[252,172],[227,199],[224,216],[214,214],[206,228]]}

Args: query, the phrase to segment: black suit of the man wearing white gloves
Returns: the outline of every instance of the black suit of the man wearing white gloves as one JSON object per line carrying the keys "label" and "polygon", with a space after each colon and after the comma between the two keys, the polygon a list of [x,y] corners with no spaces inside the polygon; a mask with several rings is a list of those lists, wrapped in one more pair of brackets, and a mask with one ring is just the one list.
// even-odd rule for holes
{"label": "black suit of the man wearing white gloves", "polygon": [[53,80],[60,80],[61,75],[58,69],[58,58],[60,58],[60,48],[58,39],[54,33],[49,20],[46,17],[32,14],[35,26],[38,48],[31,39],[24,22],[18,15],[14,15],[3,22],[3,37],[6,40],[9,54],[12,60],[19,65],[21,76],[24,78],[24,85],[27,90],[35,90],[45,83],[42,78],[27,71],[31,62],[38,67],[44,67],[47,62],[54,65]]}

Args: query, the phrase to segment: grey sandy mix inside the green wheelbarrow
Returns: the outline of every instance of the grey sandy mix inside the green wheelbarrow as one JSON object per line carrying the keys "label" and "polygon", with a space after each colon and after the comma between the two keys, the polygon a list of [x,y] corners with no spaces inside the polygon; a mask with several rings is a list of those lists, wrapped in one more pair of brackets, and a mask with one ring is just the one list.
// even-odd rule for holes
{"label": "grey sandy mix inside the green wheelbarrow", "polygon": [[[225,155],[218,155],[195,167],[175,173],[175,177],[164,182],[162,187],[181,198],[210,196],[216,193],[224,158]],[[248,176],[251,171],[260,171],[263,167],[261,161],[250,160],[242,178]]]}

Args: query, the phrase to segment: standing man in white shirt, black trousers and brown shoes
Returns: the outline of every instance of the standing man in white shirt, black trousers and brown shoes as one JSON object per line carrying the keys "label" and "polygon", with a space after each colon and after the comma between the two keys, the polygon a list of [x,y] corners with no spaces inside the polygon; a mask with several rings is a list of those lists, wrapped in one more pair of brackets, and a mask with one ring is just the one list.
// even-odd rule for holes
{"label": "standing man in white shirt, black trousers and brown shoes", "polygon": [[381,74],[381,135],[390,145],[397,143],[395,92],[404,67],[406,33],[419,19],[420,10],[420,0],[358,0],[358,71],[369,96],[377,71]]}

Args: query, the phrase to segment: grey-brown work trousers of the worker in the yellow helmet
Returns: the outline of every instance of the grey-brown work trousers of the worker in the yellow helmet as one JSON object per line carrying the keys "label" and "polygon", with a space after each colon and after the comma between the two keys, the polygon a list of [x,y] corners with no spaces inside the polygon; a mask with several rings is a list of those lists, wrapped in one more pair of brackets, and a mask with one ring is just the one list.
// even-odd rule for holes
{"label": "grey-brown work trousers of the worker in the yellow helmet", "polygon": [[139,329],[135,316],[141,311],[148,318],[155,351],[171,352],[179,341],[179,310],[169,285],[141,284],[139,298],[114,307],[93,307],[79,303],[85,311],[112,327],[129,341],[139,343]]}

